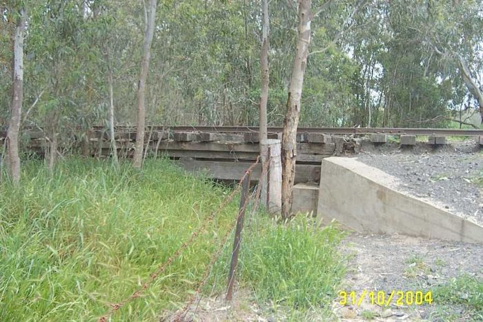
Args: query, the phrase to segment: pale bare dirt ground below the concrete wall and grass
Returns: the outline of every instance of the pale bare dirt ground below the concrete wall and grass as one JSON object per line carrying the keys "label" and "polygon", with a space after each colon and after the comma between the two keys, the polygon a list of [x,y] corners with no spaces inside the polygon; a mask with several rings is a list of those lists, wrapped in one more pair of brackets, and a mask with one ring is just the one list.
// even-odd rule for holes
{"label": "pale bare dirt ground below the concrete wall and grass", "polygon": [[[366,292],[392,290],[433,291],[452,278],[469,274],[483,279],[483,245],[450,241],[428,240],[403,235],[370,235],[351,233],[344,239],[341,251],[348,256],[348,272],[342,290],[354,291],[359,296]],[[387,299],[387,297],[386,297]],[[366,297],[361,305],[340,305],[333,302],[334,316],[330,319],[309,314],[306,321],[474,321],[462,305],[395,305],[371,304]],[[264,307],[257,304],[248,290],[237,290],[233,303],[224,295],[204,296],[192,305],[185,321],[288,321],[284,309],[274,310],[274,303]],[[172,321],[164,316],[161,321]]]}

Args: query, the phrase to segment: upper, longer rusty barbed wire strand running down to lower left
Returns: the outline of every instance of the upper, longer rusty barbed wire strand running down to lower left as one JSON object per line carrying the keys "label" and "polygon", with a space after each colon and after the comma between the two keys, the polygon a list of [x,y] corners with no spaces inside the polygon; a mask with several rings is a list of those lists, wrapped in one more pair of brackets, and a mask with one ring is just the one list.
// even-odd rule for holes
{"label": "upper, longer rusty barbed wire strand running down to lower left", "polygon": [[212,212],[210,214],[210,216],[208,216],[205,221],[203,221],[201,223],[201,225],[199,225],[199,228],[197,228],[197,230],[195,230],[194,232],[191,233],[190,235],[190,238],[185,241],[179,248],[178,250],[175,252],[175,254],[172,254],[172,256],[170,256],[170,258],[165,261],[163,264],[161,264],[159,266],[159,268],[152,274],[150,274],[150,278],[148,279],[148,281],[146,281],[142,286],[141,288],[137,289],[134,293],[132,293],[130,296],[126,297],[125,299],[123,299],[122,301],[120,301],[119,303],[116,303],[116,304],[111,304],[111,308],[110,310],[108,310],[108,312],[106,314],[104,314],[103,316],[101,316],[99,318],[99,322],[106,322],[108,321],[109,317],[114,313],[116,312],[117,310],[119,310],[120,308],[122,308],[124,305],[126,305],[126,303],[128,303],[129,301],[132,301],[133,299],[137,299],[139,296],[141,296],[142,292],[144,292],[145,290],[147,290],[150,286],[150,284],[155,281],[155,279],[157,279],[157,276],[159,276],[159,274],[161,274],[162,272],[164,272],[164,270],[166,270],[166,268],[173,262],[175,261],[175,259],[177,259],[179,257],[179,255],[181,254],[181,252],[183,252],[186,248],[188,248],[188,246],[193,243],[193,241],[195,241],[196,237],[199,235],[200,232],[202,232],[206,226],[208,225],[208,223],[210,223],[211,221],[213,221],[213,219],[215,219],[215,217],[219,214],[219,212],[221,212],[221,210],[223,210],[226,205],[228,205],[228,203],[235,197],[235,194],[237,194],[238,190],[242,187],[242,183],[244,181],[244,179],[246,178],[246,176],[248,175],[248,172],[250,172],[251,170],[253,170],[253,168],[255,168],[255,165],[257,165],[259,163],[259,159],[260,159],[260,156],[257,157],[257,160],[255,161],[255,163],[252,163],[252,165],[250,165],[250,167],[246,170],[244,176],[242,177],[242,179],[239,180],[239,183],[237,184],[237,187],[233,190],[233,192],[231,192],[228,197],[226,197],[224,199],[224,201],[221,203],[221,205],[219,205],[219,207],[217,208],[217,210],[215,210],[215,212]]}

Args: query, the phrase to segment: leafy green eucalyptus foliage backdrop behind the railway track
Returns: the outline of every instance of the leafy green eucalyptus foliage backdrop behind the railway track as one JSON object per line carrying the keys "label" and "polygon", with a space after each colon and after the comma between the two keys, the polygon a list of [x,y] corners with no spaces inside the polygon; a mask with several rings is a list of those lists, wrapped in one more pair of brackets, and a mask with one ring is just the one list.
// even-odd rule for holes
{"label": "leafy green eucalyptus foliage backdrop behind the railway track", "polygon": [[[8,118],[18,1],[1,6],[0,123]],[[445,127],[475,101],[455,54],[481,74],[477,1],[313,1],[300,125]],[[106,123],[108,73],[117,123],[135,123],[142,1],[23,1],[28,11],[23,120],[82,137]],[[261,9],[250,1],[161,1],[148,123],[257,125]],[[357,9],[357,10],[356,10]],[[282,125],[297,37],[294,1],[271,1],[268,123]],[[437,50],[443,52],[438,54]],[[369,116],[370,115],[370,116]],[[371,123],[371,124],[369,124]],[[49,129],[52,128],[52,129]]]}

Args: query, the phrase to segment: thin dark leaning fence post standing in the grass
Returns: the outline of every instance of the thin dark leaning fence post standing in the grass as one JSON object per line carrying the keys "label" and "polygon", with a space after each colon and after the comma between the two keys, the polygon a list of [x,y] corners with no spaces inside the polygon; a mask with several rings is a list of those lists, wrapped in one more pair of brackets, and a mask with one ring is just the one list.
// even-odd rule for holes
{"label": "thin dark leaning fence post standing in the grass", "polygon": [[250,194],[250,172],[246,174],[243,181],[242,197],[240,198],[237,228],[235,230],[235,239],[233,241],[233,252],[231,253],[230,272],[228,273],[228,287],[226,288],[226,301],[231,301],[233,296],[233,285],[235,284],[235,270],[238,265],[238,253],[242,243],[242,229],[245,217],[246,204],[248,203],[248,194]]}

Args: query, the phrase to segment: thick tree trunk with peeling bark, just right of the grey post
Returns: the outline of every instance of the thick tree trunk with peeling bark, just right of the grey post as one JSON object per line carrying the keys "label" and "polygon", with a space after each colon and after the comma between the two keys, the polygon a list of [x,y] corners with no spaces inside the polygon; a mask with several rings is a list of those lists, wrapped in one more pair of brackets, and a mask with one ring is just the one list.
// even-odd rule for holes
{"label": "thick tree trunk with peeling bark, just right of the grey post", "polygon": [[299,0],[299,27],[297,50],[293,62],[290,88],[288,89],[287,113],[284,119],[282,141],[282,216],[288,218],[292,210],[292,190],[297,157],[297,126],[304,74],[307,65],[308,45],[311,42],[311,0]]}

